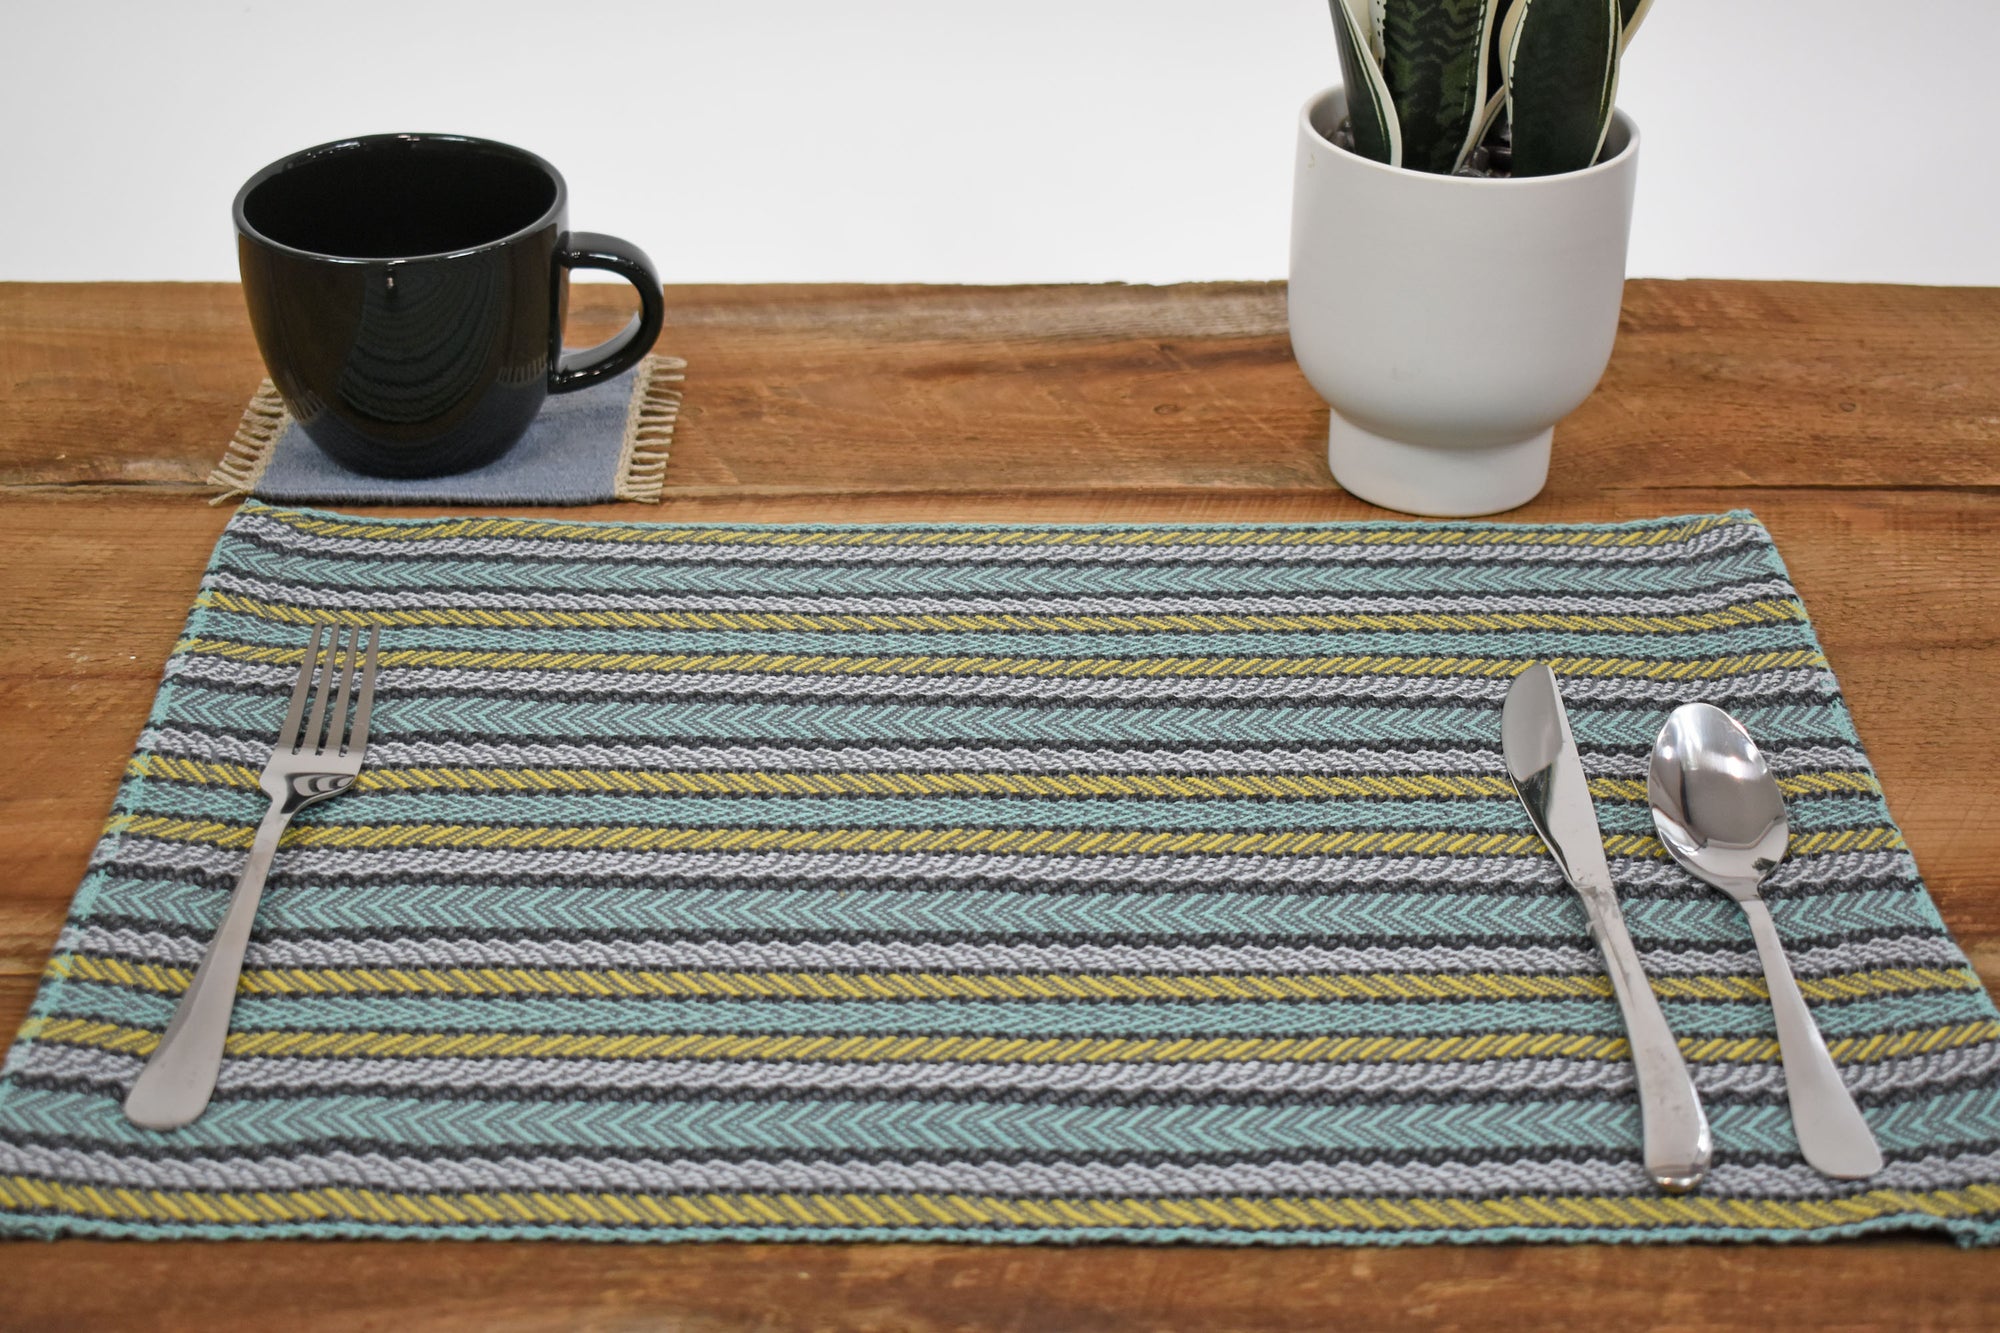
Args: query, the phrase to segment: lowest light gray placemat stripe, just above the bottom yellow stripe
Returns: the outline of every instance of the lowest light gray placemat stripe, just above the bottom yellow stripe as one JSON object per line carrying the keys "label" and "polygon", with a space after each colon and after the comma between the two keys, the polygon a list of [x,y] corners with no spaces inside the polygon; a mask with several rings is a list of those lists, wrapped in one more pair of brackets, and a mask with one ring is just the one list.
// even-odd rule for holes
{"label": "lowest light gray placemat stripe, just above the bottom yellow stripe", "polygon": [[[1634,1195],[1654,1197],[1636,1159],[1584,1161],[690,1161],[510,1155],[428,1159],[396,1153],[302,1153],[298,1157],[198,1157],[158,1161],[110,1149],[0,1145],[0,1171],[126,1189],[394,1189],[452,1191],[954,1191],[1046,1197],[1108,1195]],[[1870,1189],[1960,1189],[1992,1181],[2000,1153],[1926,1155],[1890,1161],[1868,1181],[1836,1183],[1804,1163],[1718,1161],[1704,1197],[1834,1199]]]}

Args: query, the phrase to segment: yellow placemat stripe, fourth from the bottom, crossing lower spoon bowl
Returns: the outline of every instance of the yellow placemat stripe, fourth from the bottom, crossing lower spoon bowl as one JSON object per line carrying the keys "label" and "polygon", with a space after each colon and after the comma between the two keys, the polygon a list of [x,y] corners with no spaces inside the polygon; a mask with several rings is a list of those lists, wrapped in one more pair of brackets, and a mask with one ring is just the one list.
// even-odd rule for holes
{"label": "yellow placemat stripe, fourth from the bottom, crossing lower spoon bowl", "polygon": [[[108,835],[246,849],[250,825],[166,815],[112,815]],[[1892,827],[1794,833],[1790,855],[1900,849]],[[1278,833],[1202,833],[1158,829],[660,829],[650,825],[292,825],[284,847],[386,849],[452,847],[498,851],[652,851],[652,853],[938,853],[1038,857],[1540,857],[1532,833],[1458,833],[1444,829],[1326,829]],[[1612,833],[1612,857],[1664,859],[1652,835]]]}

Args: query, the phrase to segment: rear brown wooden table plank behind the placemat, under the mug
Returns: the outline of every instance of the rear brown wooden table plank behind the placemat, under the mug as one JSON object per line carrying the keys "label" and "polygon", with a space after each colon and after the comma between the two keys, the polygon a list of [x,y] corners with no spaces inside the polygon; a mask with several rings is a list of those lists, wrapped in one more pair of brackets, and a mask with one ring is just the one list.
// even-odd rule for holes
{"label": "rear brown wooden table plank behind the placemat, under the mug", "polygon": [[[628,294],[576,292],[574,340],[622,322]],[[262,376],[232,284],[0,284],[0,484],[198,484]],[[1332,488],[1278,284],[668,288],[660,348],[694,366],[676,496]],[[2000,290],[1632,282],[1520,516],[2000,486],[1996,366]]]}

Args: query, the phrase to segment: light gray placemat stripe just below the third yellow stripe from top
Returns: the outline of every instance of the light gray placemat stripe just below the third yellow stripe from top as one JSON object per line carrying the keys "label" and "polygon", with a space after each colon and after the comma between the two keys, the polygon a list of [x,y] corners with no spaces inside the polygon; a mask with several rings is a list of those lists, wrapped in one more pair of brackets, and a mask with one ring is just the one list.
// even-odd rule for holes
{"label": "light gray placemat stripe just below the third yellow stripe from top", "polygon": [[[292,666],[268,666],[220,656],[176,658],[176,679],[268,691],[286,691]],[[1182,705],[1190,699],[1226,701],[1462,701],[1500,703],[1512,685],[1508,677],[1400,677],[1400,675],[1300,675],[1300,677],[1002,677],[1002,675],[890,675],[890,673],[750,673],[750,671],[502,671],[444,666],[386,666],[380,689],[398,695],[452,695],[462,691],[510,691],[518,695],[624,695],[634,699],[694,695],[774,695],[792,699],[900,697],[936,703],[940,691],[952,701],[1092,701]],[[1570,703],[1638,703],[1668,709],[1696,699],[1764,699],[1774,695],[1838,693],[1834,677],[1822,669],[1760,671],[1726,681],[1628,681],[1576,679],[1564,683]]]}

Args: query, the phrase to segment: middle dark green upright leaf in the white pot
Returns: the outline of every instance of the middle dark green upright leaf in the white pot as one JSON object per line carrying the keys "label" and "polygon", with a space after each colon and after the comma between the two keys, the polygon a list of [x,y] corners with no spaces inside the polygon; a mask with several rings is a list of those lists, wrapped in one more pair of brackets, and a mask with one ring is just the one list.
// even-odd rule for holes
{"label": "middle dark green upright leaf in the white pot", "polygon": [[1396,104],[1402,164],[1450,172],[1486,108],[1486,40],[1496,0],[1384,0],[1382,78]]}

